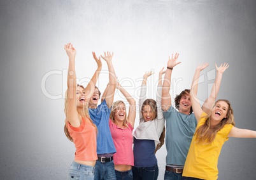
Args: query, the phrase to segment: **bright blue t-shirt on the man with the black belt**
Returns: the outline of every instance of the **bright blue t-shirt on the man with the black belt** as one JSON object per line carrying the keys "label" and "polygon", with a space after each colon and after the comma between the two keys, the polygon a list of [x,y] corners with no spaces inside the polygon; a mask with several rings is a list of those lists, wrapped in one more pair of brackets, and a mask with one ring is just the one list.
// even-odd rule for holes
{"label": "bright blue t-shirt on the man with the black belt", "polygon": [[115,153],[115,145],[110,133],[110,108],[104,100],[97,108],[89,108],[90,119],[97,126],[97,154]]}

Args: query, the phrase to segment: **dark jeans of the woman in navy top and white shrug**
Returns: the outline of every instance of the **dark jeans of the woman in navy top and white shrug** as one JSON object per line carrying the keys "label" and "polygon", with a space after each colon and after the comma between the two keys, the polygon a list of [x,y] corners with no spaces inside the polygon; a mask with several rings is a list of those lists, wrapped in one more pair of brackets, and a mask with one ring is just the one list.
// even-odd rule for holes
{"label": "dark jeans of the woman in navy top and white shrug", "polygon": [[133,179],[157,180],[159,169],[157,164],[152,167],[132,167]]}

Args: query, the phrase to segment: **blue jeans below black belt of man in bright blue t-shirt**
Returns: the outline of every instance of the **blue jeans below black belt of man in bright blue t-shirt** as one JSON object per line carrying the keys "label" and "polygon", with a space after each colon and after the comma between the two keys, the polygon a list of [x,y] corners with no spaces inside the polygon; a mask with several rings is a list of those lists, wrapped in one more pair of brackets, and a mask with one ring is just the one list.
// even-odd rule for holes
{"label": "blue jeans below black belt of man in bright blue t-shirt", "polygon": [[96,160],[94,170],[94,180],[116,180],[115,166],[113,160],[111,162],[100,162]]}

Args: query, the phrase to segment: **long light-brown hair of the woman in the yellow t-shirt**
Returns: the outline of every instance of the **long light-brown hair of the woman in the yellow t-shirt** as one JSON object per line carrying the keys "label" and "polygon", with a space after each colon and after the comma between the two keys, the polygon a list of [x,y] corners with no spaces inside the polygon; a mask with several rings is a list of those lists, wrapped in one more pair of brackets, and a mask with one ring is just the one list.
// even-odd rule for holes
{"label": "long light-brown hair of the woman in the yellow t-shirt", "polygon": [[218,100],[218,101],[215,102],[215,105],[219,101],[224,101],[229,106],[228,110],[227,110],[227,117],[222,119],[220,121],[220,123],[215,125],[215,126],[211,126],[211,124],[210,124],[211,114],[204,117],[206,119],[206,121],[195,132],[197,143],[210,144],[215,139],[217,132],[220,131],[220,129],[222,129],[225,124],[235,125],[234,112],[233,112],[233,109],[231,107],[231,103],[228,100]]}

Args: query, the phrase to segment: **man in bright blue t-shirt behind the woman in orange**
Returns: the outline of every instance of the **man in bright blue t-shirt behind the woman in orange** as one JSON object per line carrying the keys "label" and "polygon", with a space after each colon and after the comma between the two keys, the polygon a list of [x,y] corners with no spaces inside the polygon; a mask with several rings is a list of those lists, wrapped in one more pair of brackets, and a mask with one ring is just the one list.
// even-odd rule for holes
{"label": "man in bright blue t-shirt behind the woman in orange", "polygon": [[[100,61],[100,57],[97,58],[93,52],[94,59]],[[90,119],[97,126],[97,157],[94,179],[116,179],[115,167],[113,164],[113,153],[116,152],[115,145],[110,133],[109,119],[110,108],[113,103],[113,96],[115,93],[115,86],[117,84],[117,77],[112,64],[113,53],[104,53],[101,58],[106,61],[109,71],[110,83],[108,84],[104,94],[104,100],[100,105],[97,105],[101,92],[98,87],[95,87],[94,94],[89,100],[89,113]],[[96,84],[96,79],[94,79]]]}

